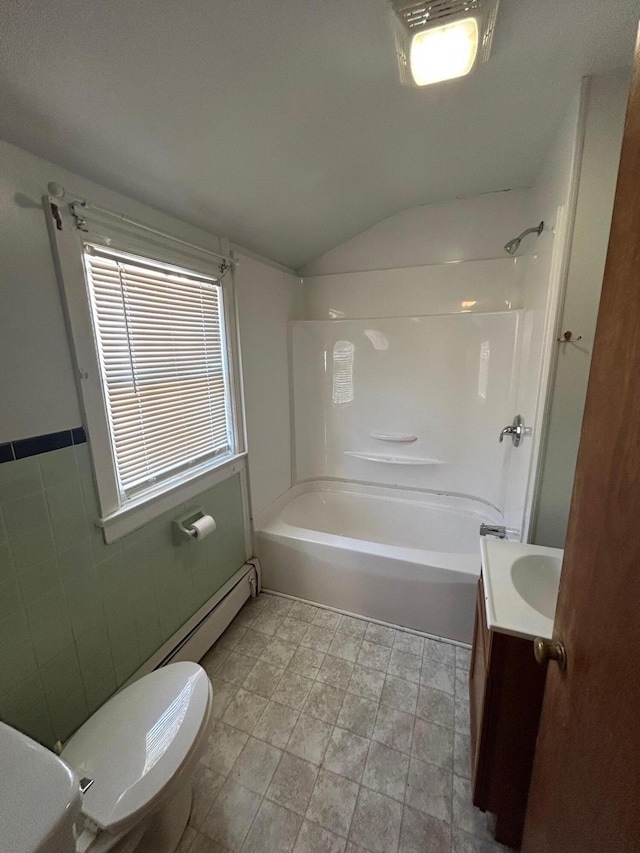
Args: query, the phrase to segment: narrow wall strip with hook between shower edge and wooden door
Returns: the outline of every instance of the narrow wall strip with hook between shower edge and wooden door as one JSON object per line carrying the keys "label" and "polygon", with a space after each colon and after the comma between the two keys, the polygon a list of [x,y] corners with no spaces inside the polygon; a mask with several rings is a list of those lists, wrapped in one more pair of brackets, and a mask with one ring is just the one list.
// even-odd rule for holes
{"label": "narrow wall strip with hook between shower edge and wooden door", "polygon": [[590,81],[584,151],[534,541],[564,546],[629,89],[626,71]]}

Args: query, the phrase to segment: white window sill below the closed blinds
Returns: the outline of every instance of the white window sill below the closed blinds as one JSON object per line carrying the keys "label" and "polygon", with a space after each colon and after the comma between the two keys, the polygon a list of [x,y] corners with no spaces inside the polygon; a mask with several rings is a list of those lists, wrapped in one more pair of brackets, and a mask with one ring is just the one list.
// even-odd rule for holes
{"label": "white window sill below the closed blinds", "polygon": [[104,541],[110,545],[145,524],[149,524],[159,515],[196,498],[207,489],[244,471],[246,455],[246,452],[238,453],[215,468],[194,474],[189,479],[182,480],[156,495],[145,495],[136,502],[132,501],[126,507],[97,519],[96,524],[102,528]]}

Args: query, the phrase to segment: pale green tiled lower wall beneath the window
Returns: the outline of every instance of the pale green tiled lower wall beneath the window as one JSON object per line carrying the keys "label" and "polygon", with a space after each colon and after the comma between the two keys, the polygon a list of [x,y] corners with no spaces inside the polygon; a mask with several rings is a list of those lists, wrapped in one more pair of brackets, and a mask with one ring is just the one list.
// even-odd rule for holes
{"label": "pale green tiled lower wall beneath the window", "polygon": [[64,741],[240,568],[239,476],[185,506],[215,533],[176,547],[177,508],[105,545],[88,445],[0,465],[0,719]]}

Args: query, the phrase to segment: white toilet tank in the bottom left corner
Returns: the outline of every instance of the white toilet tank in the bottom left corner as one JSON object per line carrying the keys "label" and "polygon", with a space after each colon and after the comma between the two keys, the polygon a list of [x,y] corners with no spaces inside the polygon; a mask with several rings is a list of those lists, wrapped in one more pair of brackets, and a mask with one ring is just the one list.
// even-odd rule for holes
{"label": "white toilet tank in the bottom left corner", "polygon": [[74,771],[0,723],[0,853],[73,853],[80,805]]}

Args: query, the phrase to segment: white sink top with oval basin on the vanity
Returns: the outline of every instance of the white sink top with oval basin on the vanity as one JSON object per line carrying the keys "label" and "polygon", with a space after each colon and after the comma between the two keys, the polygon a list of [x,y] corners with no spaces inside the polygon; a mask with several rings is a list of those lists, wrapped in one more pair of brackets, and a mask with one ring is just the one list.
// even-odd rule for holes
{"label": "white sink top with oval basin on the vanity", "polygon": [[487,625],[525,639],[550,640],[564,552],[480,537]]}

